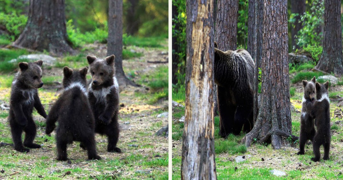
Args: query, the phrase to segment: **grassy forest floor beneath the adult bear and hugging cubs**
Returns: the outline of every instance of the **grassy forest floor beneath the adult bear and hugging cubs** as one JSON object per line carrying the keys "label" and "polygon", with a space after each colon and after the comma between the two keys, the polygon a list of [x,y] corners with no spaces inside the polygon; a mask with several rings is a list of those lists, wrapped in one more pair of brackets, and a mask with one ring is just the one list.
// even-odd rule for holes
{"label": "grassy forest floor beneath the adult bear and hugging cubs", "polygon": [[[290,73],[291,103],[295,107],[292,110],[292,133],[299,136],[300,111],[303,97],[303,85],[300,76],[310,80],[314,72],[308,70],[293,71]],[[316,75],[316,73],[315,73]],[[316,76],[318,78],[318,76]],[[301,79],[301,78],[300,78]],[[343,79],[339,79],[338,85],[329,86],[330,114],[331,114],[331,148],[330,160],[324,161],[323,147],[320,148],[321,160],[311,161],[313,157],[312,144],[305,146],[305,155],[296,155],[299,148],[298,142],[286,140],[289,144],[278,150],[274,150],[270,144],[253,143],[250,147],[240,143],[245,133],[234,136],[230,134],[228,139],[218,135],[219,117],[215,117],[215,163],[218,179],[342,179],[343,178]],[[297,82],[295,82],[297,81]],[[300,80],[301,81],[301,80]],[[180,97],[180,96],[175,96]],[[184,98],[174,98],[184,105]],[[173,106],[173,179],[180,179],[182,133],[184,123],[178,120],[184,116],[183,107]],[[245,160],[237,163],[235,158],[245,156]],[[280,170],[285,176],[277,177],[271,170]]]}

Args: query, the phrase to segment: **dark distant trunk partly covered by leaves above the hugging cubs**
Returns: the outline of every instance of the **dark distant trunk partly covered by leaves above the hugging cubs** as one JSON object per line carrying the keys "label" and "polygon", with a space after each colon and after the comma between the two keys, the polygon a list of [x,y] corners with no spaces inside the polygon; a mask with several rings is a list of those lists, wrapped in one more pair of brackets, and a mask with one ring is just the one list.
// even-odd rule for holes
{"label": "dark distant trunk partly covered by leaves above the hugging cubs", "polygon": [[306,10],[306,0],[291,0],[291,11],[292,13],[297,13],[298,15],[295,16],[294,27],[292,26],[291,34],[292,34],[292,48],[299,49],[299,46],[295,42],[295,35],[298,34],[298,31],[303,28],[303,25],[300,21],[300,16],[304,14]]}

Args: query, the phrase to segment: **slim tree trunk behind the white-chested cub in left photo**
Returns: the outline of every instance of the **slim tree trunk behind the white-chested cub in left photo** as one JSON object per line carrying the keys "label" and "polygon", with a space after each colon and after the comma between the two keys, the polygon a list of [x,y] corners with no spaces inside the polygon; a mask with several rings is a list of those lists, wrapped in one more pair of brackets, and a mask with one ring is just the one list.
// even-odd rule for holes
{"label": "slim tree trunk behind the white-chested cub in left photo", "polygon": [[116,77],[119,85],[139,86],[130,81],[123,71],[122,51],[123,51],[123,1],[108,1],[108,39],[107,56],[115,55]]}

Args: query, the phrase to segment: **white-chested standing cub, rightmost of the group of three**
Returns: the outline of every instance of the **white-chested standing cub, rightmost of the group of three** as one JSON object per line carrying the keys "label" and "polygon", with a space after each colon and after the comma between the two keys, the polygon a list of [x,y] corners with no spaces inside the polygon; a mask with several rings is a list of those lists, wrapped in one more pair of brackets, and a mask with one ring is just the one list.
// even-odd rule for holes
{"label": "white-chested standing cub, rightmost of the group of three", "polygon": [[[120,153],[117,147],[119,138],[119,86],[114,77],[115,56],[98,59],[87,56],[92,74],[92,83],[88,88],[88,99],[95,118],[95,132],[108,137],[108,152]],[[80,144],[83,146],[83,144]]]}

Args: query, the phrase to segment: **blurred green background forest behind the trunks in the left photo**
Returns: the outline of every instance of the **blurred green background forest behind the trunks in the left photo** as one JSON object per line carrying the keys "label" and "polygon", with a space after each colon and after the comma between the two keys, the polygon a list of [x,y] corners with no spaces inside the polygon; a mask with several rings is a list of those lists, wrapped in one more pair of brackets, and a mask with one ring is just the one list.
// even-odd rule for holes
{"label": "blurred green background forest behind the trunks in the left photo", "polygon": [[[29,0],[0,0],[0,46],[25,28]],[[66,0],[67,34],[73,48],[107,42],[108,0]],[[131,36],[168,37],[167,0],[123,0],[123,44]]]}

